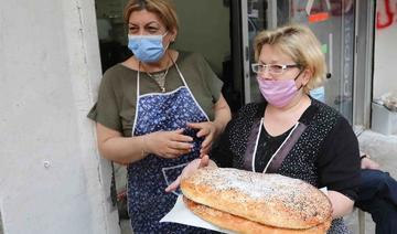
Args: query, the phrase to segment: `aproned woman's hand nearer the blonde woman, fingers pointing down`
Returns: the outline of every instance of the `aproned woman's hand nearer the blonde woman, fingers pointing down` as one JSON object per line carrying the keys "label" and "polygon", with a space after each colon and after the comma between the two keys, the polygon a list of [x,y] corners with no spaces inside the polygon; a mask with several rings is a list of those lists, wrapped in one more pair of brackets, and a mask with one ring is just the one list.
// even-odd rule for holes
{"label": "aproned woman's hand nearer the blonde woman, fingers pointing down", "polygon": [[216,125],[213,121],[202,121],[202,123],[187,123],[187,127],[197,129],[197,137],[204,137],[202,142],[200,155],[207,155],[211,145],[215,137],[217,136]]}

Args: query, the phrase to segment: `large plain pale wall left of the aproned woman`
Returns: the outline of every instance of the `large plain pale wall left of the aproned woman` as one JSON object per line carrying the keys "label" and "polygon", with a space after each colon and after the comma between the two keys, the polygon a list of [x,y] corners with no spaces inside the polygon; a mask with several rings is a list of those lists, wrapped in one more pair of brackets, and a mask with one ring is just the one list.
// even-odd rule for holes
{"label": "large plain pale wall left of the aproned woman", "polygon": [[85,117],[100,78],[94,0],[0,6],[4,233],[118,233],[109,167]]}

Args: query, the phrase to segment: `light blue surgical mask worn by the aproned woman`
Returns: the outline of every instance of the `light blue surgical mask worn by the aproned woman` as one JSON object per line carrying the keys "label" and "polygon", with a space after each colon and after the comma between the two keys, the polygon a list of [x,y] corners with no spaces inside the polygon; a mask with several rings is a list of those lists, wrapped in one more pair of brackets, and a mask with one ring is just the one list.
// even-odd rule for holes
{"label": "light blue surgical mask worn by the aproned woman", "polygon": [[143,63],[158,62],[167,49],[162,40],[163,35],[128,35],[128,49],[133,55]]}

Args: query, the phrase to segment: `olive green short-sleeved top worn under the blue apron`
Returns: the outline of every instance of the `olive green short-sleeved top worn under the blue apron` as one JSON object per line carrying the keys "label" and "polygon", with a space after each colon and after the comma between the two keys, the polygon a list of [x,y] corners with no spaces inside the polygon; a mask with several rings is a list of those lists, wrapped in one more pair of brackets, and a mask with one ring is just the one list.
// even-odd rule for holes
{"label": "olive green short-sleeved top worn under the blue apron", "polygon": [[[175,63],[195,99],[213,120],[213,106],[221,96],[223,83],[204,57],[197,53],[180,52]],[[159,73],[161,72],[164,73],[164,71]],[[137,106],[137,71],[122,64],[106,71],[99,86],[98,100],[88,113],[88,117],[121,132],[125,137],[130,137]],[[173,65],[165,77],[165,92],[181,86],[184,86],[183,82]],[[161,93],[158,83],[144,72],[140,72],[139,88],[140,95]]]}

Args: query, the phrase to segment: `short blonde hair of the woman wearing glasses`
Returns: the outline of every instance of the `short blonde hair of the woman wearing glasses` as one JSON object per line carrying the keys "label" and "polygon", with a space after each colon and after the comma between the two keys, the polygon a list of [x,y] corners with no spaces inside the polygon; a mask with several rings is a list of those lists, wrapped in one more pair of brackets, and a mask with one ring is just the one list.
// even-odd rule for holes
{"label": "short blonde hair of the woman wearing glasses", "polygon": [[289,24],[260,32],[254,42],[256,61],[259,60],[260,51],[265,44],[275,46],[281,53],[290,56],[297,64],[312,72],[312,77],[304,87],[305,92],[319,87],[324,82],[325,56],[321,51],[319,40],[309,28]]}

